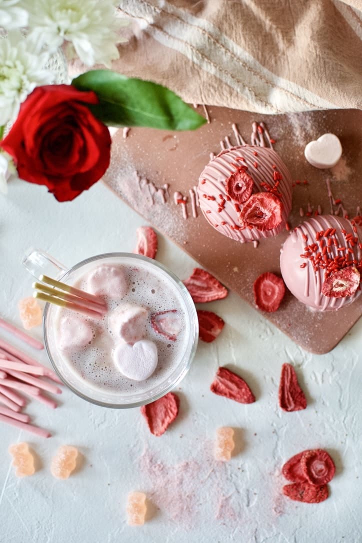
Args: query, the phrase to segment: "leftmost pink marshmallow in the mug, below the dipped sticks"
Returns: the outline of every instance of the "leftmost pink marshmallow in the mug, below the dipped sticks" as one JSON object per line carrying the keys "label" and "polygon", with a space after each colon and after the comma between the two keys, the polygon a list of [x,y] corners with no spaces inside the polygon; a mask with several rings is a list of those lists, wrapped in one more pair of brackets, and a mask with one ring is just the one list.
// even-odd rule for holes
{"label": "leftmost pink marshmallow in the mug, below the dipped sticks", "polygon": [[92,326],[77,315],[62,317],[59,323],[58,346],[61,351],[83,349],[94,336]]}

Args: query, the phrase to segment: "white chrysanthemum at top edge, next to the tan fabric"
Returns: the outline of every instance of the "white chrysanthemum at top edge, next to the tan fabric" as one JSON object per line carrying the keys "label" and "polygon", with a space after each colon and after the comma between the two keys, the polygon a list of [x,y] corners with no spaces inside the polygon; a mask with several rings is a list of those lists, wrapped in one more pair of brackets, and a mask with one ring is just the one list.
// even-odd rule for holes
{"label": "white chrysanthemum at top edge, next to the tan fabric", "polygon": [[[71,42],[87,66],[118,59],[116,11],[113,0],[24,0],[30,35],[50,52]],[[25,5],[25,4],[24,4]]]}

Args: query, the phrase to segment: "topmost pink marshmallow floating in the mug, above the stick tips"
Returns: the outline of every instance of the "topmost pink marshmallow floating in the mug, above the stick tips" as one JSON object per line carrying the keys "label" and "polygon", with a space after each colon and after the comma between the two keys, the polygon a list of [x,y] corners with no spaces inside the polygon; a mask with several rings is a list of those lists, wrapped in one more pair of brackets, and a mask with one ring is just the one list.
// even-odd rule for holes
{"label": "topmost pink marshmallow floating in the mug, above the stick tips", "polygon": [[123,298],[128,291],[123,269],[120,266],[98,266],[88,276],[86,290],[96,296]]}

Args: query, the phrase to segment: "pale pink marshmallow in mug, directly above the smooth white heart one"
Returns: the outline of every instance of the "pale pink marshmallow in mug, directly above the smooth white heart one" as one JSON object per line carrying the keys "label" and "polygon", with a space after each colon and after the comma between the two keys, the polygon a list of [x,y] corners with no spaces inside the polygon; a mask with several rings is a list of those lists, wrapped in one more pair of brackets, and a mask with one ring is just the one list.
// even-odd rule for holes
{"label": "pale pink marshmallow in mug, directly above the smooth white heart one", "polygon": [[113,336],[126,343],[135,343],[145,336],[148,311],[141,306],[124,304],[109,316],[108,325]]}

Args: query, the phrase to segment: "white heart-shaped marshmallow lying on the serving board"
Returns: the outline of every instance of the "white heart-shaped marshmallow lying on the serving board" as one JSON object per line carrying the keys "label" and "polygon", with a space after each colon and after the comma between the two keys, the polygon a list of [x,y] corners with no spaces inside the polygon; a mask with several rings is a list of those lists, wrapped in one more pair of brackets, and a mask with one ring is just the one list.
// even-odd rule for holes
{"label": "white heart-shaped marshmallow lying on the serving board", "polygon": [[342,146],[334,134],[323,134],[316,141],[307,143],[304,156],[315,168],[333,168],[342,155]]}

